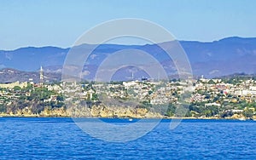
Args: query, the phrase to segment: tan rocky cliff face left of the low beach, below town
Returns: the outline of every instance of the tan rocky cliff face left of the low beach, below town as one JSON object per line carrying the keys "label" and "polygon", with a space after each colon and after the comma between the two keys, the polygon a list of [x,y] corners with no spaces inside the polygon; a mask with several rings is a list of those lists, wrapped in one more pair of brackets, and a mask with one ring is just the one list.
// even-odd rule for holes
{"label": "tan rocky cliff face left of the low beach, below town", "polygon": [[33,113],[32,107],[26,107],[23,109],[18,109],[17,111],[8,111],[7,113],[2,113],[0,115],[16,117],[163,117],[160,115],[160,113],[149,111],[146,108],[117,106],[91,106],[91,108],[72,106],[67,109],[65,107],[44,107],[44,110],[40,111],[39,113]]}

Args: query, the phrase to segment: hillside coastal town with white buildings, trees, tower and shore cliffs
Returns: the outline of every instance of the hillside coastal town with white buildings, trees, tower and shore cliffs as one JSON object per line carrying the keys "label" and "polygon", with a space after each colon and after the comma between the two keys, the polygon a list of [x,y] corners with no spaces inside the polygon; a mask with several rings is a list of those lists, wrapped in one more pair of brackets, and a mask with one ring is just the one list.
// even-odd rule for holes
{"label": "hillside coastal town with white buildings, trees, tower and shore cliffs", "polygon": [[[188,90],[190,83],[190,90]],[[183,94],[190,93],[183,98]],[[183,115],[177,114],[187,104]],[[1,83],[4,117],[190,117],[254,119],[255,77],[233,76],[188,81],[148,78],[127,82]]]}

